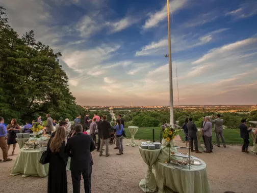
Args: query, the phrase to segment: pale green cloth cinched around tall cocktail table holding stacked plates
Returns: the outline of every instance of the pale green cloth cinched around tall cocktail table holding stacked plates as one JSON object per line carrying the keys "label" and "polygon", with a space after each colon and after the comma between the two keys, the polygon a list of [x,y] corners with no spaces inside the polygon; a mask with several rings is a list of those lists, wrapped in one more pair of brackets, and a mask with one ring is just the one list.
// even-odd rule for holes
{"label": "pale green cloth cinched around tall cocktail table holding stacked plates", "polygon": [[139,182],[139,187],[144,192],[154,192],[157,190],[157,183],[155,179],[155,175],[152,173],[152,165],[155,164],[161,149],[156,150],[148,150],[139,148],[139,152],[145,162],[147,164],[147,173],[144,179]]}

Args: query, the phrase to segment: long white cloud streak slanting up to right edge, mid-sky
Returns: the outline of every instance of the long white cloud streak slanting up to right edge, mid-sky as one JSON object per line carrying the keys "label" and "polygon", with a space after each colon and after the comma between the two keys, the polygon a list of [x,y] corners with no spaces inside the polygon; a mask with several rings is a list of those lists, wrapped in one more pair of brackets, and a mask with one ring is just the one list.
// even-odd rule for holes
{"label": "long white cloud streak slanting up to right edge, mid-sky", "polygon": [[[257,43],[257,38],[248,38],[248,39],[241,40],[241,41],[238,41],[238,42],[235,42],[232,44],[224,45],[220,48],[212,49],[207,54],[204,54],[199,59],[193,61],[192,64],[197,65],[199,63],[203,63],[203,62],[209,61],[214,58],[222,58],[222,57],[226,58],[231,54],[236,55],[234,51],[242,51],[242,50],[238,50],[238,49],[242,49],[247,46],[252,46],[252,45],[254,45],[254,43]],[[237,57],[242,58],[242,57],[244,57],[244,55],[237,56]]]}

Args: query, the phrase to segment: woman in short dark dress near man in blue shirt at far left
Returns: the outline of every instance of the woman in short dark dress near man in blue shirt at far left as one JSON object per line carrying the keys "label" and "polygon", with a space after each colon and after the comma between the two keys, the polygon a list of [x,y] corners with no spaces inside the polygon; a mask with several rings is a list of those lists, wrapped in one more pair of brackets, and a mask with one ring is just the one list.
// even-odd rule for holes
{"label": "woman in short dark dress near man in blue shirt at far left", "polygon": [[16,134],[20,132],[20,125],[18,125],[17,120],[13,118],[11,120],[11,123],[7,125],[6,130],[8,132],[8,139],[7,139],[8,151],[11,145],[13,145],[12,155],[14,155],[14,150],[16,148],[16,143],[17,143]]}

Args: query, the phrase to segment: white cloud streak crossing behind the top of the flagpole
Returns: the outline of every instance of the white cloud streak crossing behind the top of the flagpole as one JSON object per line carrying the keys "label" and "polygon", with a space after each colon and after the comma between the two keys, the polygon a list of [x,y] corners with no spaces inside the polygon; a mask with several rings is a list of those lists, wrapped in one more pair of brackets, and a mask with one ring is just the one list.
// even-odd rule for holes
{"label": "white cloud streak crossing behind the top of the flagpole", "polygon": [[[187,0],[173,0],[170,2],[170,14],[182,9],[186,4]],[[144,29],[151,27],[156,27],[158,24],[167,18],[167,4],[162,8],[161,11],[155,13],[149,13],[149,18],[145,21],[143,25]]]}

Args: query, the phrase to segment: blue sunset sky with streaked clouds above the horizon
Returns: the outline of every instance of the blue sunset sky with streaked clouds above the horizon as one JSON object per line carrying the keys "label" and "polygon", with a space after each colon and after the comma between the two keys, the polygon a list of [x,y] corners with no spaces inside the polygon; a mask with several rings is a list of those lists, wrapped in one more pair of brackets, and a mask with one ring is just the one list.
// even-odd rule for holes
{"label": "blue sunset sky with streaked clouds above the horizon", "polygon": [[[166,0],[0,6],[20,36],[34,30],[38,41],[62,52],[79,105],[169,105]],[[257,104],[255,0],[173,0],[170,20],[174,105]]]}

